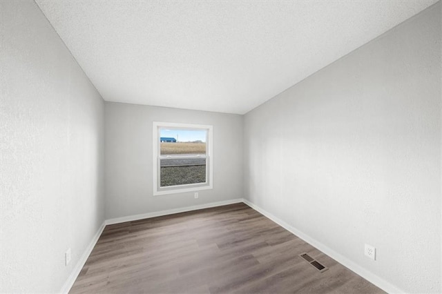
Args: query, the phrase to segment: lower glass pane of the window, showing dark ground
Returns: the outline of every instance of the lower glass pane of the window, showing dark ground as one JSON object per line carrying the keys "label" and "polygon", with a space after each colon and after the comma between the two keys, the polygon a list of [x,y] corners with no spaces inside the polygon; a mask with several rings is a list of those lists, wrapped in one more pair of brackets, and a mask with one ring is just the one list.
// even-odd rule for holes
{"label": "lower glass pane of the window, showing dark ground", "polygon": [[206,159],[160,159],[160,187],[206,182]]}

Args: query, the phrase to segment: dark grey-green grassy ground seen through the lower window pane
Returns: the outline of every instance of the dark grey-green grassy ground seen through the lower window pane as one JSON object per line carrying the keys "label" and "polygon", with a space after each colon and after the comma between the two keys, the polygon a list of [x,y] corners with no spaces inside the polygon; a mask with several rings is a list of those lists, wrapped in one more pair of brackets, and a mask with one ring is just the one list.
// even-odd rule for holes
{"label": "dark grey-green grassy ground seen through the lower window pane", "polygon": [[206,182],[206,166],[162,166],[160,186]]}

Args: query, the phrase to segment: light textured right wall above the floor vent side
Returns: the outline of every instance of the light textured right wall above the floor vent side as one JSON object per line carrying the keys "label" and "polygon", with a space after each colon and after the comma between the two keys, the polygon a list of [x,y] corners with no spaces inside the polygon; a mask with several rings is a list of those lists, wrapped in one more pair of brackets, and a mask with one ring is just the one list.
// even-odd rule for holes
{"label": "light textured right wall above the floor vent side", "polygon": [[440,6],[244,117],[247,199],[407,292],[442,292]]}

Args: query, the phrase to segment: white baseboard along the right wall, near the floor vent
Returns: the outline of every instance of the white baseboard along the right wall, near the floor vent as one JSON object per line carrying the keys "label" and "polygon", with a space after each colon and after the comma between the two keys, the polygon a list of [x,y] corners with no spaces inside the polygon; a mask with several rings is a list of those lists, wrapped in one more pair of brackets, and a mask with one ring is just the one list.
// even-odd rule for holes
{"label": "white baseboard along the right wall, near the floor vent", "polygon": [[294,226],[291,226],[284,222],[282,219],[279,219],[278,217],[275,217],[271,213],[268,213],[266,210],[260,208],[256,204],[251,203],[247,199],[243,199],[243,202],[253,208],[254,210],[258,211],[258,213],[261,213],[262,215],[265,215],[265,217],[271,219],[273,222],[276,222],[276,224],[279,224],[282,226],[282,228],[285,228],[290,233],[293,233],[297,237],[300,237],[300,239],[303,239],[305,242],[310,244],[311,246],[314,246],[318,250],[322,251],[323,253],[327,254],[329,257],[332,257],[336,260],[336,262],[339,262],[343,266],[349,268],[350,271],[353,271],[354,273],[360,275],[365,280],[369,281],[370,283],[378,286],[383,291],[386,291],[387,293],[405,293],[405,291],[402,291],[401,289],[397,288],[393,284],[383,280],[378,275],[374,275],[374,273],[367,271],[362,266],[359,266],[355,262],[352,262],[352,260],[348,259],[347,257],[344,257],[343,255],[340,255],[336,251],[332,250],[325,244],[318,242],[316,239],[309,237],[309,235],[303,233],[302,231],[299,231],[297,228],[294,228]]}

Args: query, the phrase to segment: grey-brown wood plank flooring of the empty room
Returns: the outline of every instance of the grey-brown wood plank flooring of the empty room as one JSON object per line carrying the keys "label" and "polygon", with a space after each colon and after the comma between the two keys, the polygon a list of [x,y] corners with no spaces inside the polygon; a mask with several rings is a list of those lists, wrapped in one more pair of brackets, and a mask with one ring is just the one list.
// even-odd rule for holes
{"label": "grey-brown wood plank flooring of the empty room", "polygon": [[[329,269],[320,273],[298,255]],[[70,293],[384,293],[245,204],[106,226]]]}

